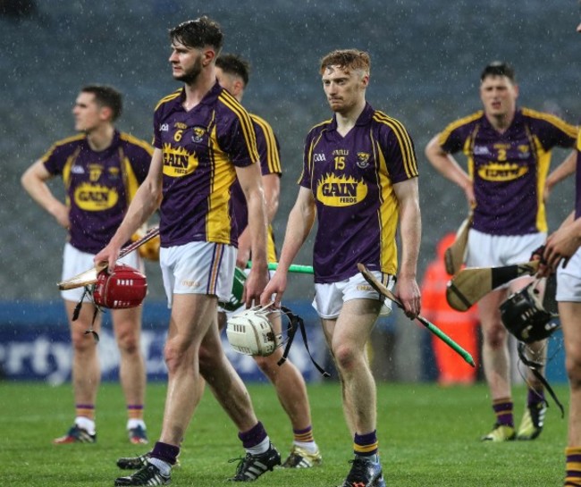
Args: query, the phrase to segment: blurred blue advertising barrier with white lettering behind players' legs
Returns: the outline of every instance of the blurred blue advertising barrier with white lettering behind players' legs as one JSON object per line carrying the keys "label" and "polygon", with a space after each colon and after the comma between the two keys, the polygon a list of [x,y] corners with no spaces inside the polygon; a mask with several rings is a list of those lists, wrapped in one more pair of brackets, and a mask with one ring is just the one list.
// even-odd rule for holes
{"label": "blurred blue advertising barrier with white lettering behind players' legs", "polygon": [[[307,301],[289,302],[286,305],[305,320],[311,352],[316,361],[323,364],[324,337],[312,306]],[[150,381],[167,377],[163,350],[169,315],[164,302],[144,304],[141,348]],[[102,378],[104,381],[116,381],[119,352],[110,314],[106,311],[99,336]],[[301,341],[299,336],[295,338],[290,349],[290,360],[299,367],[307,381],[319,380],[320,374],[312,365]],[[223,347],[242,380],[265,380],[252,357],[234,352],[225,336]],[[0,368],[5,379],[62,383],[71,380],[71,367],[69,325],[61,301],[0,302]]]}

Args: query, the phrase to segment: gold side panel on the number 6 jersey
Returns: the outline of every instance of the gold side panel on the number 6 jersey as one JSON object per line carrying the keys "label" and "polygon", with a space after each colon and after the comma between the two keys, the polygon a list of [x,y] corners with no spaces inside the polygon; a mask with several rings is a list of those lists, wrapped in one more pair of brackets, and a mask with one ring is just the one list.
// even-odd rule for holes
{"label": "gold side panel on the number 6 jersey", "polygon": [[[217,140],[216,126],[212,127],[210,139]],[[228,211],[230,189],[236,181],[236,169],[228,155],[217,143],[209,144],[209,157],[214,164],[210,164],[210,194],[207,198],[206,238],[211,242],[231,243],[230,233],[232,220]]]}

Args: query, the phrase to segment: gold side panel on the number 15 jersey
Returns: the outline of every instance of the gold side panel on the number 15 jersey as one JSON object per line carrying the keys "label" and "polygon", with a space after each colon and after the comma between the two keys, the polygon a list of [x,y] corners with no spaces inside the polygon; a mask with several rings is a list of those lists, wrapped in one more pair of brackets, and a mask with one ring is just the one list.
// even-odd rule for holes
{"label": "gold side panel on the number 15 jersey", "polygon": [[395,275],[398,271],[398,248],[395,240],[395,232],[399,219],[399,205],[395,191],[393,191],[385,155],[383,155],[381,147],[379,147],[379,144],[371,133],[369,137],[372,141],[375,161],[377,161],[375,170],[377,180],[375,184],[380,189],[379,207],[377,209],[377,221],[380,226],[379,261],[382,273]]}

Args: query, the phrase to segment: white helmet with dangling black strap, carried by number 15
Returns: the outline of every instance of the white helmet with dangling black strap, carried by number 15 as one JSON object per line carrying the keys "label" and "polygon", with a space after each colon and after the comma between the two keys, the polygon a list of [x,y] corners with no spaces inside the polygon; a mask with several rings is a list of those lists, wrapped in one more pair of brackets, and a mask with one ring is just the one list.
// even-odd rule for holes
{"label": "white helmet with dangling black strap, carried by number 15", "polygon": [[268,315],[279,311],[272,303],[254,306],[228,319],[226,335],[232,348],[244,355],[268,357],[282,346],[282,335],[274,332]]}

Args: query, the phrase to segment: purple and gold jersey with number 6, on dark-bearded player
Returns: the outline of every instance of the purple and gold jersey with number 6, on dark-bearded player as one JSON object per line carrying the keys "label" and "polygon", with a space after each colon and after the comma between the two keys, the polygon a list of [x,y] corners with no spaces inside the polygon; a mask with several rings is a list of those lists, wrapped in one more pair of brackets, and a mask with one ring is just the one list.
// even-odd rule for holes
{"label": "purple and gold jersey with number 6, on dark-bearded player", "polygon": [[235,166],[257,163],[257,139],[247,111],[215,86],[189,111],[183,88],[164,97],[154,114],[154,146],[164,162],[162,247],[192,241],[236,246],[232,208]]}

